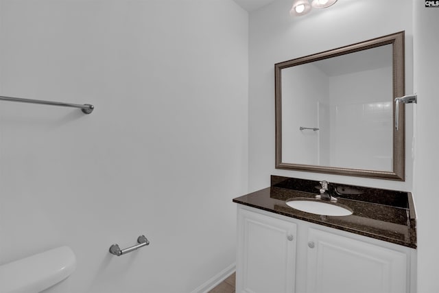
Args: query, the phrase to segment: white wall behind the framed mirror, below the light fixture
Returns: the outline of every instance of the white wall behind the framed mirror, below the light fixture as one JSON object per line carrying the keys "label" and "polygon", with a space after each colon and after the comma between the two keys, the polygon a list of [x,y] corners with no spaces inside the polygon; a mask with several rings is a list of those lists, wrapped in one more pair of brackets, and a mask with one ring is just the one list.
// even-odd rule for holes
{"label": "white wall behind the framed mirror, below the light fixture", "polygon": [[[412,154],[405,182],[294,172],[274,168],[274,64],[405,30],[406,84],[412,93],[412,1],[339,0],[331,8],[289,16],[292,1],[278,0],[250,13],[249,189],[267,187],[270,174],[329,182],[412,190]],[[412,145],[412,108],[407,107],[407,145]]]}

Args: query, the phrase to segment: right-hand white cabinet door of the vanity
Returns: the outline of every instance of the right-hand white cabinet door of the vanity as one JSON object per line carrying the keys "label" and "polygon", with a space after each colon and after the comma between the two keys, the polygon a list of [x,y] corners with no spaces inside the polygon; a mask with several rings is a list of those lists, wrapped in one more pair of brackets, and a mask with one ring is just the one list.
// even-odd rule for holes
{"label": "right-hand white cabinet door of the vanity", "polygon": [[308,293],[407,292],[407,255],[332,233],[309,229]]}

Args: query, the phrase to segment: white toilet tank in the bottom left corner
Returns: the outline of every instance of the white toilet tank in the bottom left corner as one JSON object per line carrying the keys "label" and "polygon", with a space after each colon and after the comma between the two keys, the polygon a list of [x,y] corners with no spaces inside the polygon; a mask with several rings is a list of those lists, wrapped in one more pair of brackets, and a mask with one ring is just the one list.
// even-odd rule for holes
{"label": "white toilet tank in the bottom left corner", "polygon": [[[75,268],[76,257],[68,246],[12,261],[0,266],[0,292],[42,292],[67,279]],[[58,285],[54,289],[56,287]],[[54,291],[50,289],[50,292]],[[62,289],[61,292],[65,293],[66,290]]]}

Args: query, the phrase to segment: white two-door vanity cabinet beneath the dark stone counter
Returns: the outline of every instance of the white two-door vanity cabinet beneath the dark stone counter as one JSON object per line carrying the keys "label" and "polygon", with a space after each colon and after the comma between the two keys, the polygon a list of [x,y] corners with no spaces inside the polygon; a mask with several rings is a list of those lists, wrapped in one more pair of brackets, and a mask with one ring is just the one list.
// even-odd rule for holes
{"label": "white two-door vanity cabinet beneath the dark stone counter", "polygon": [[412,248],[241,204],[237,227],[236,292],[416,291]]}

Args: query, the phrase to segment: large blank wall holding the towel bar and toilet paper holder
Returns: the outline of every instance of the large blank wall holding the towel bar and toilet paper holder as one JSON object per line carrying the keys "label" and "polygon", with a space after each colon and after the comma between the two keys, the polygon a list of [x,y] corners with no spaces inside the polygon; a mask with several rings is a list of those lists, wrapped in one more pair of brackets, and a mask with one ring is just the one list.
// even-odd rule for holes
{"label": "large blank wall holding the towel bar and toilet paper holder", "polygon": [[[73,292],[191,292],[235,262],[248,14],[229,0],[1,0],[0,264],[73,248]],[[150,246],[123,257],[111,244]]]}

